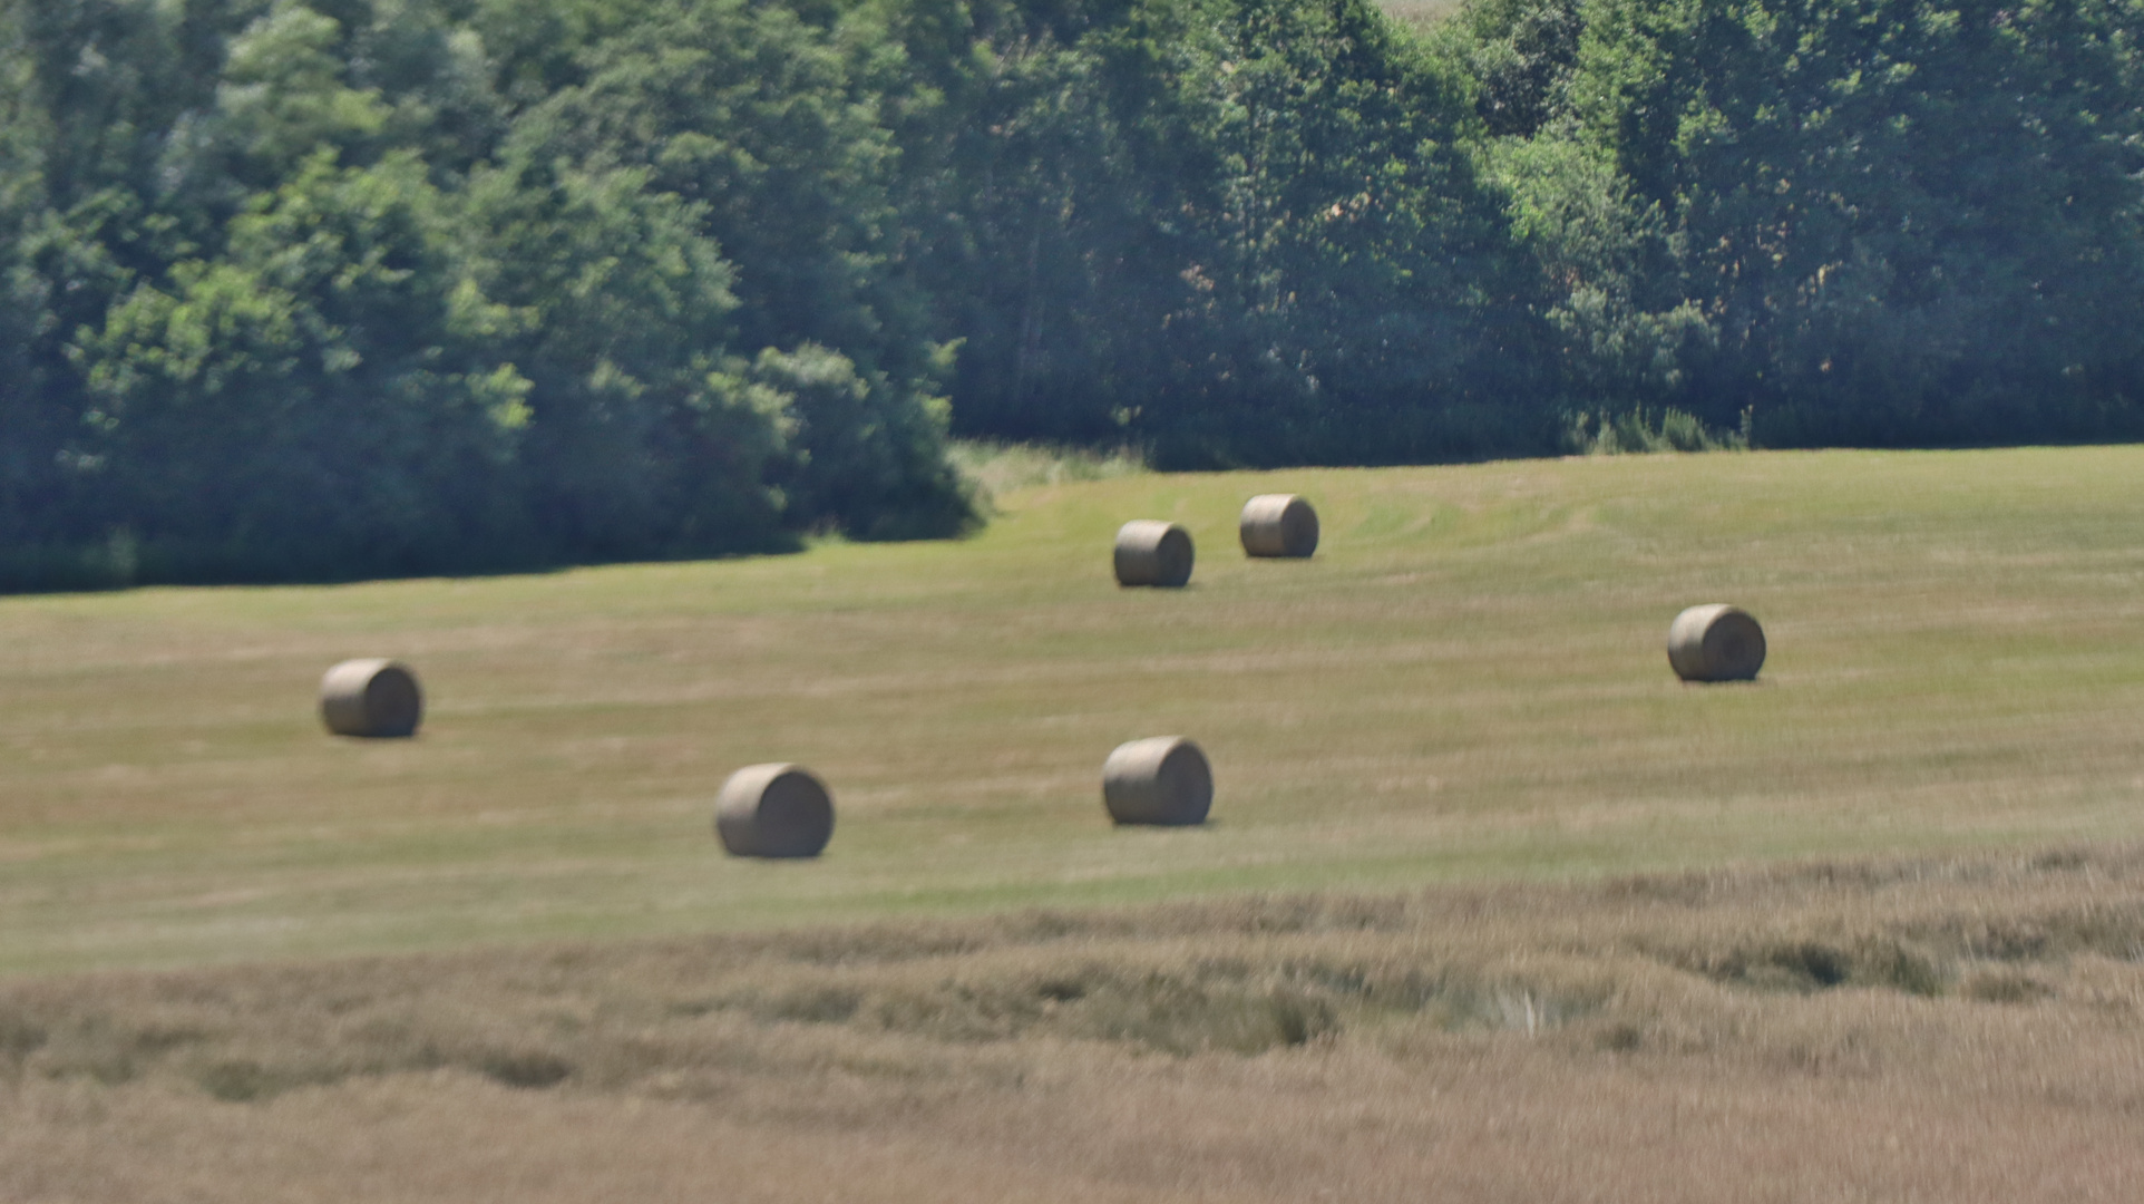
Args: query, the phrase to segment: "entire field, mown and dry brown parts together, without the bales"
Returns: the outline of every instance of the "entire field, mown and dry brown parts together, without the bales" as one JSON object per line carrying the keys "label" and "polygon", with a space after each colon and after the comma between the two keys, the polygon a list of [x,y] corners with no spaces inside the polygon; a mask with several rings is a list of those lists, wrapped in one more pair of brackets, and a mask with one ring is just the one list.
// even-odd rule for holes
{"label": "entire field, mown and dry brown parts together, without the bales", "polygon": [[[1267,489],[1314,560],[1241,558]],[[0,599],[0,1198],[2135,1195],[2144,449],[999,504]],[[1128,517],[1192,588],[1115,588]],[[1698,601],[1756,685],[1672,678]],[[319,734],[354,655],[420,738]],[[1108,826],[1147,734],[1214,824]],[[825,858],[720,856],[763,760]]]}

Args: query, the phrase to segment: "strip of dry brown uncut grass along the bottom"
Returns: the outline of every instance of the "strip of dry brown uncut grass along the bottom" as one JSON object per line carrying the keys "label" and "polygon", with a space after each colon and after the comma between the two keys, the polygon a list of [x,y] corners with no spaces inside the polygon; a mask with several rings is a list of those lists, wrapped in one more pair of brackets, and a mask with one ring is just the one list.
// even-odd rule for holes
{"label": "strip of dry brown uncut grass along the bottom", "polygon": [[0,987],[11,1202],[2135,1200],[2140,1135],[2144,848]]}

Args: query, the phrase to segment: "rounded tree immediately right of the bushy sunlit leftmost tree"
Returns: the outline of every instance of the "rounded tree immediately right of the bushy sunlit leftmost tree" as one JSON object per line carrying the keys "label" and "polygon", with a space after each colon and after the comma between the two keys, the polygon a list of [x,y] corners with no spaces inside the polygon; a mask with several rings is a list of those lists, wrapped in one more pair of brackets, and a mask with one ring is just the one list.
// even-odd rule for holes
{"label": "rounded tree immediately right of the bushy sunlit leftmost tree", "polygon": [[643,170],[508,159],[478,172],[478,279],[491,339],[527,373],[523,481],[551,556],[783,547],[768,474],[780,399],[725,356],[731,268],[701,208]]}

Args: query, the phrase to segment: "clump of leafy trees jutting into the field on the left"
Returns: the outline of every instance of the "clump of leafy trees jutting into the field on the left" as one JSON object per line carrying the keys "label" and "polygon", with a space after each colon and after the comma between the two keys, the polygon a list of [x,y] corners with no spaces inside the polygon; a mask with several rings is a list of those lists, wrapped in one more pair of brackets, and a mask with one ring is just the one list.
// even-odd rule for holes
{"label": "clump of leafy trees jutting into the field on the left", "polygon": [[967,519],[946,356],[873,260],[885,131],[793,13],[21,0],[4,28],[4,579]]}

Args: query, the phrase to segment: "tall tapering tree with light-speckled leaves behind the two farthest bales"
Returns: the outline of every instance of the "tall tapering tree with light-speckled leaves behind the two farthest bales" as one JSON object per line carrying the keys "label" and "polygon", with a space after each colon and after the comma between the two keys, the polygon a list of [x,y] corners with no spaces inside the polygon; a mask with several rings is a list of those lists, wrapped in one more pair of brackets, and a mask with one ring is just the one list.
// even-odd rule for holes
{"label": "tall tapering tree with light-speckled leaves behind the two farthest bales", "polygon": [[1477,176],[1466,90],[1361,0],[1239,0],[1220,28],[1220,204],[1171,322],[1164,461],[1546,446],[1531,277]]}

